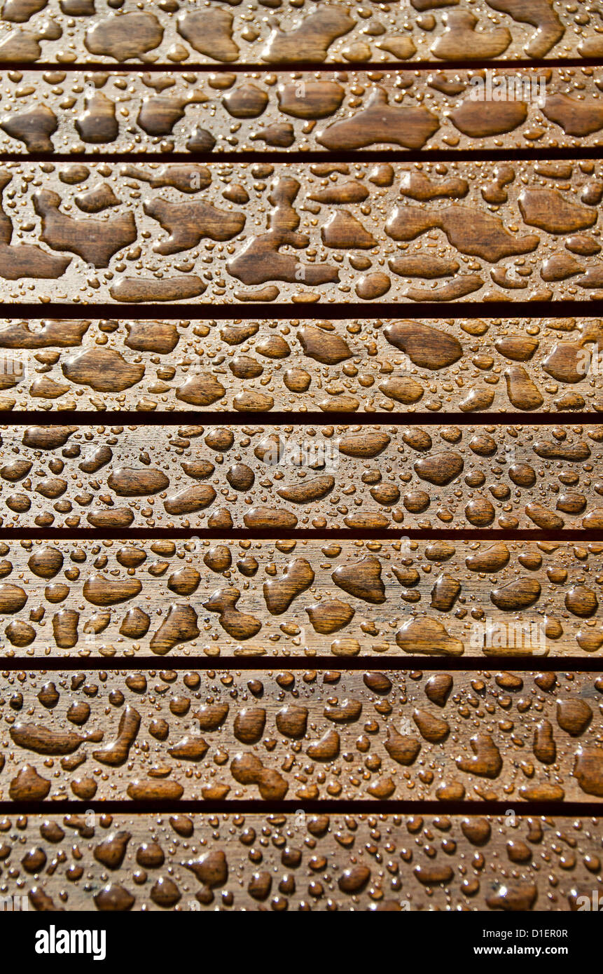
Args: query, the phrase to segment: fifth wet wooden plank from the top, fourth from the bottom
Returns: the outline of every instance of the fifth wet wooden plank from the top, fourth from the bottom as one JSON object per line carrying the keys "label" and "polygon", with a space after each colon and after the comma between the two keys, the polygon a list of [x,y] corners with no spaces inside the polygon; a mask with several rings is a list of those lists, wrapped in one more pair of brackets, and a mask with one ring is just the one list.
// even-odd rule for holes
{"label": "fifth wet wooden plank from the top, fourth from the bottom", "polygon": [[603,527],[596,425],[0,432],[5,528]]}

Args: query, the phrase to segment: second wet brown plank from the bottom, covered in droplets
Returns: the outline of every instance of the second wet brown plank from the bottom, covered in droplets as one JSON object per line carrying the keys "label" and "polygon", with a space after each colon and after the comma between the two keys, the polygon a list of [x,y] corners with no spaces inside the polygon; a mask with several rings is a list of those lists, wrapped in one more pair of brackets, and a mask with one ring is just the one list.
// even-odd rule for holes
{"label": "second wet brown plank from the bottom, covered in droplets", "polygon": [[596,673],[5,671],[0,686],[3,801],[603,799]]}

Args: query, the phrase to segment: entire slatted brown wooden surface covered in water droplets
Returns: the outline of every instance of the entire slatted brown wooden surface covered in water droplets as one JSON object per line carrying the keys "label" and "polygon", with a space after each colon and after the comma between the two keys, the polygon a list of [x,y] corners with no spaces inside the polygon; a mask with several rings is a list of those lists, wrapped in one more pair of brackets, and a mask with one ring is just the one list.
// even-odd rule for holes
{"label": "entire slatted brown wooden surface covered in water droplets", "polygon": [[[603,427],[572,416],[603,409],[603,331],[592,304],[561,304],[603,297],[603,170],[581,152],[602,144],[600,20],[557,0],[2,5],[0,409],[39,419],[1,429],[17,540],[0,543],[0,801],[82,811],[0,819],[0,903],[575,910],[591,895],[599,820],[517,811],[603,798],[603,678],[525,670],[596,668],[603,647]],[[528,300],[533,317],[512,315]],[[458,301],[482,318],[446,317]],[[392,318],[394,303],[431,312]],[[18,318],[44,304],[47,320]],[[192,320],[202,304],[232,316]],[[329,320],[340,304],[390,317]],[[105,409],[174,424],[79,422]],[[388,424],[400,411],[437,425]],[[459,412],[471,425],[447,425]],[[556,426],[531,421],[545,412]],[[366,540],[387,529],[456,534]],[[563,529],[580,540],[545,534]],[[384,655],[396,669],[350,662]],[[57,656],[118,669],[35,669]],[[415,656],[426,671],[399,668]],[[509,657],[512,672],[476,668]],[[259,810],[227,813],[239,799]],[[266,814],[287,800],[300,808]],[[464,801],[475,815],[446,814]]]}

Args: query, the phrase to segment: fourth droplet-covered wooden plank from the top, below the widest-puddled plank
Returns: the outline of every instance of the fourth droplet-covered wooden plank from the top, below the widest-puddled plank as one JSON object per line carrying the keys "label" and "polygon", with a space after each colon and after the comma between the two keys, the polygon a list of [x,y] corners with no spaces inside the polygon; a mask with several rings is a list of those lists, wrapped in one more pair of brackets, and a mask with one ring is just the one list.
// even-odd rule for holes
{"label": "fourth droplet-covered wooden plank from the top, below the widest-puddled plank", "polygon": [[[408,352],[399,347],[404,333],[415,338],[404,341]],[[268,354],[277,340],[283,358]],[[428,355],[444,346],[448,355]],[[603,412],[602,347],[601,318],[5,318],[0,408]],[[76,381],[74,358],[97,363],[86,384],[81,374]],[[206,404],[179,398],[195,363],[215,389]],[[533,384],[530,401],[510,381],[518,367]]]}

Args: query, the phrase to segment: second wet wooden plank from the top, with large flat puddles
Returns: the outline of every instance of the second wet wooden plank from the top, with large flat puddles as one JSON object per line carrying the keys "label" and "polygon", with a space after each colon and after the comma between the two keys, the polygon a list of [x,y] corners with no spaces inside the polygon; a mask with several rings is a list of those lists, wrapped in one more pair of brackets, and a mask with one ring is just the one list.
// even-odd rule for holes
{"label": "second wet wooden plank from the top, with large flat puddles", "polygon": [[[0,73],[11,153],[600,146],[600,70]],[[543,98],[543,103],[541,103]]]}

